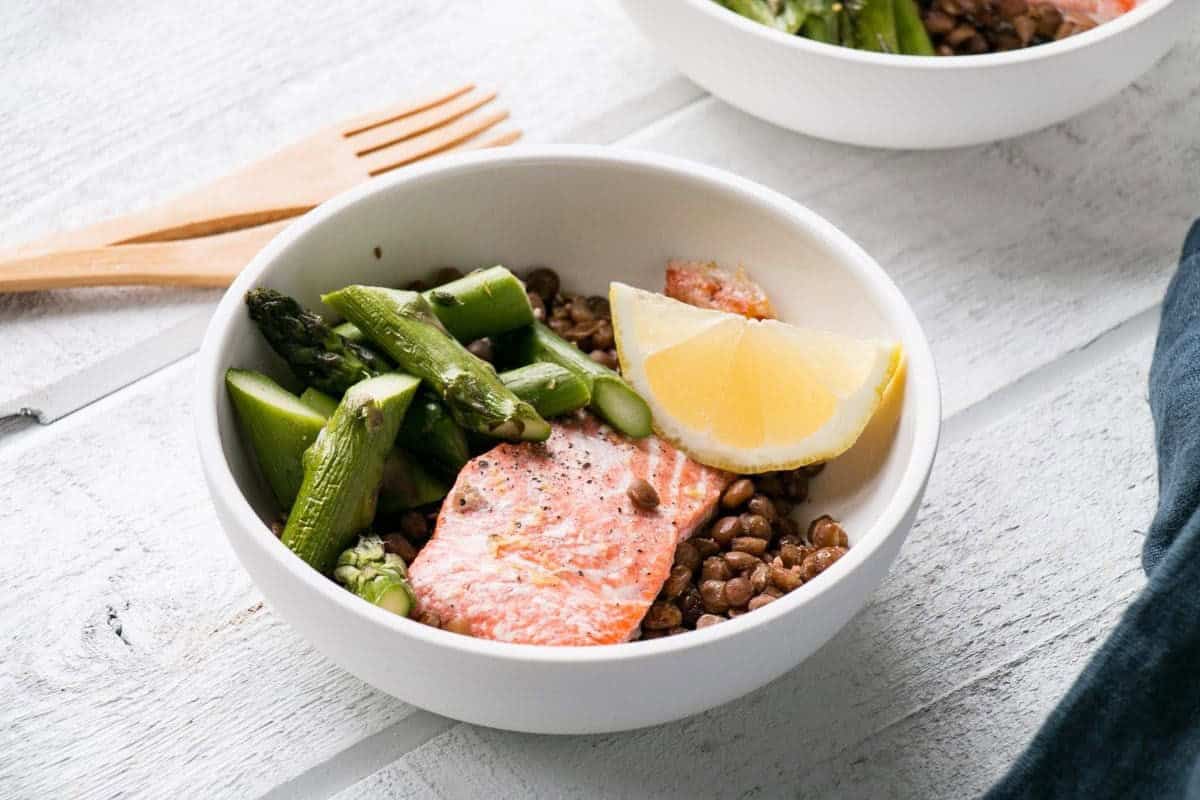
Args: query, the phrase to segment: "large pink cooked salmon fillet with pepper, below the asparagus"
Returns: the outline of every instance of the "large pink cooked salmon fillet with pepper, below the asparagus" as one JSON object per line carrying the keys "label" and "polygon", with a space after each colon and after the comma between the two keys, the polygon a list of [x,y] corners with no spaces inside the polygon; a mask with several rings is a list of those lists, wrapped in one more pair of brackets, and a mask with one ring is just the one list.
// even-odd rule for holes
{"label": "large pink cooked salmon fillet with pepper, below the asparagus", "polygon": [[[658,509],[629,499],[636,479]],[[462,469],[409,566],[418,613],[502,642],[625,642],[730,480],[582,414],[544,443],[502,444]]]}

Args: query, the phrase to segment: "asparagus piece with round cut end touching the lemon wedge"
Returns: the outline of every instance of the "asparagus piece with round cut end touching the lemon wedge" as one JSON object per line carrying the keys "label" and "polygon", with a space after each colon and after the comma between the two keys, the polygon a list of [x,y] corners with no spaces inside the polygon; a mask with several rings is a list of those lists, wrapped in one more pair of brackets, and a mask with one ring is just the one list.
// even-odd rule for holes
{"label": "asparagus piece with round cut end touching the lemon wedge", "polygon": [[557,363],[587,381],[588,407],[608,425],[629,437],[650,435],[650,407],[616,372],[593,361],[586,353],[541,323],[500,337],[500,349],[512,363]]}

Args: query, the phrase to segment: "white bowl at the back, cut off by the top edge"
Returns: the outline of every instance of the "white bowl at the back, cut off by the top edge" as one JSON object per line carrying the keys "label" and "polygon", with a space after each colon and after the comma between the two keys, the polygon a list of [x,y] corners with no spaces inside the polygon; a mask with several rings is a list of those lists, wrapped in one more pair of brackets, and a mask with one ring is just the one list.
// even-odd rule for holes
{"label": "white bowl at the back, cut off by the top edge", "polygon": [[622,5],[684,74],[727,103],[822,139],[896,149],[992,142],[1074,116],[1148,70],[1196,6],[1142,0],[1061,42],[920,58],[788,36],[713,0]]}

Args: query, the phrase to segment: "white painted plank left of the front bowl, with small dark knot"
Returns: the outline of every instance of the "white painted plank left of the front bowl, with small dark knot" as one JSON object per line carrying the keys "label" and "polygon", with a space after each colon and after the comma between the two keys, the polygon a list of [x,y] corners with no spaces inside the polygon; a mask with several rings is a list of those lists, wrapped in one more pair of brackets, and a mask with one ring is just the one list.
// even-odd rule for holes
{"label": "white painted plank left of the front bowl, with small dark knot", "polygon": [[263,608],[193,361],[0,447],[0,796],[257,796],[410,712]]}

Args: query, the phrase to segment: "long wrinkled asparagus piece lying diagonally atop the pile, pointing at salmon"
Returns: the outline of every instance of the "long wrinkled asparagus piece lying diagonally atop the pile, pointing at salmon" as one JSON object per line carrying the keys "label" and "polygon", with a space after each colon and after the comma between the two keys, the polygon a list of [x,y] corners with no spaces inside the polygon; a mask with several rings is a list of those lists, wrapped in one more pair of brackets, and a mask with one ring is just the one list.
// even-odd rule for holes
{"label": "long wrinkled asparagus piece lying diagonally atop the pile, pointing at salmon", "polygon": [[[352,285],[322,297],[409,373],[440,395],[462,427],[514,441],[544,441],[550,425],[473,356],[415,291]],[[485,314],[486,307],[479,309]]]}

